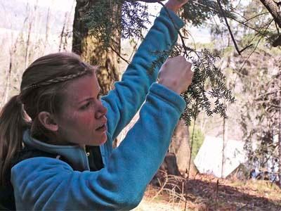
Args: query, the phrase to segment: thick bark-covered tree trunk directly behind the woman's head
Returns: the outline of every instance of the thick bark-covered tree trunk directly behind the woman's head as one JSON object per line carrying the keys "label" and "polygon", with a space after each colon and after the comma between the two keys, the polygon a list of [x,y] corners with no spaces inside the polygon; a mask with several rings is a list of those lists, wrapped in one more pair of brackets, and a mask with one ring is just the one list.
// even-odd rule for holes
{"label": "thick bark-covered tree trunk directly behind the woman's head", "polygon": [[[89,34],[83,17],[97,0],[77,0],[73,23],[72,51],[91,65],[98,65],[98,83],[102,94],[107,94],[113,88],[113,83],[119,80],[118,58],[113,51],[103,50],[100,42]],[[116,8],[119,10],[119,8]],[[120,34],[116,33],[117,46],[115,51],[120,52]]]}

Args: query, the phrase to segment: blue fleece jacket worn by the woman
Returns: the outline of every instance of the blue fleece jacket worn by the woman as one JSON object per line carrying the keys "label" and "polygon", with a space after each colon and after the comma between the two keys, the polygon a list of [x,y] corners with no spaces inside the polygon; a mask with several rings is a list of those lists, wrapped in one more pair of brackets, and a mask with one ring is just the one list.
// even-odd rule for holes
{"label": "blue fleece jacket worn by the woman", "polygon": [[[169,11],[176,27],[183,22]],[[53,146],[33,139],[26,131],[23,141],[34,148],[58,153],[70,165],[54,158],[29,158],[12,168],[17,210],[130,210],[143,197],[146,185],[164,160],[171,136],[185,101],[156,80],[147,70],[157,58],[153,51],[169,50],[178,34],[162,9],[135,54],[121,82],[102,98],[107,108],[107,142],[100,146],[104,167],[89,171],[85,152],[79,146]],[[175,67],[176,68],[176,67]],[[145,99],[146,96],[146,99]],[[112,140],[141,107],[140,118],[118,148]],[[82,134],[81,134],[82,135]]]}

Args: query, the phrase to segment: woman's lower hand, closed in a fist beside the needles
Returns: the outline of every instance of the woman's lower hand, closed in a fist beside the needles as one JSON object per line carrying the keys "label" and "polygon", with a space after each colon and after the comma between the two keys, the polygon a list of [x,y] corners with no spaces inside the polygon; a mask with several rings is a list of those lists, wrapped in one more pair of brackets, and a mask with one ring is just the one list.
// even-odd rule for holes
{"label": "woman's lower hand, closed in a fist beside the needles", "polygon": [[183,56],[168,58],[159,71],[159,84],[181,94],[191,84],[193,72],[191,63]]}

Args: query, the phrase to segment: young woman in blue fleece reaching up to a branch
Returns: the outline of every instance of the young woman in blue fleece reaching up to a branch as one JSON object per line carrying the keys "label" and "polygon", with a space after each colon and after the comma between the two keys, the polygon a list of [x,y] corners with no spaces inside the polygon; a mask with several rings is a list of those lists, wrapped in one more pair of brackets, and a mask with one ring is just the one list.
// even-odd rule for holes
{"label": "young woman in blue fleece reaching up to a branch", "polygon": [[[99,98],[96,68],[73,53],[34,61],[20,94],[1,110],[2,206],[17,210],[130,210],[161,165],[185,108],[190,63],[169,58],[158,75],[147,70],[176,42],[187,0],[169,0],[121,82]],[[173,20],[171,20],[171,18]],[[158,83],[155,83],[158,75]],[[146,97],[146,99],[145,99]],[[112,140],[141,107],[120,146]]]}

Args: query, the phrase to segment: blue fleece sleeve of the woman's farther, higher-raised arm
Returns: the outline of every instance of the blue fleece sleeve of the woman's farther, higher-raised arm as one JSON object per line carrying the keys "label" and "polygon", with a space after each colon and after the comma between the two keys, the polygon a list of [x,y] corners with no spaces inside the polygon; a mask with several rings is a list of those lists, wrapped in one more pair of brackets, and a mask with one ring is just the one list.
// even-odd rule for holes
{"label": "blue fleece sleeve of the woman's farther, higher-raised arm", "polygon": [[[171,18],[172,20],[171,20]],[[156,51],[164,52],[172,49],[178,38],[183,21],[173,12],[162,8],[159,17],[138,48],[131,64],[128,66],[122,80],[115,83],[115,89],[102,98],[103,106],[107,108],[107,131],[112,140],[128,124],[145,100],[150,85],[157,79],[161,64],[157,65],[152,74],[148,70],[159,58]],[[168,55],[164,56],[166,59]]]}

